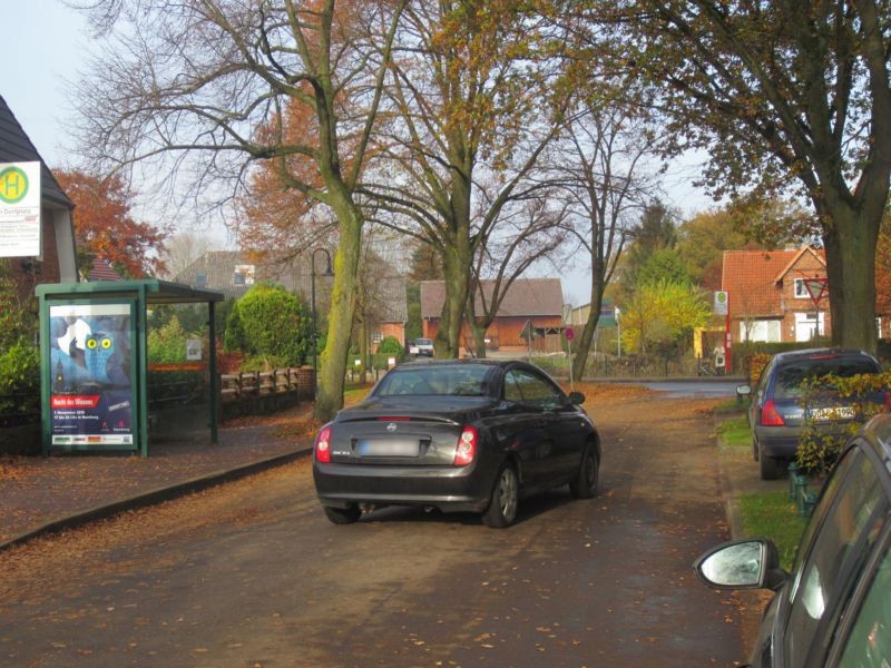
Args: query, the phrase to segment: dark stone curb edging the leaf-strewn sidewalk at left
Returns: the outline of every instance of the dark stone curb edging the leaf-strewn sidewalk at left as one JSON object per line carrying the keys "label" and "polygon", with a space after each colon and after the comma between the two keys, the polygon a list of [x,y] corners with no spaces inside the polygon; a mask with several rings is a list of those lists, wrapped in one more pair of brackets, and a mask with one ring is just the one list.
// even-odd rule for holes
{"label": "dark stone curb edging the leaf-strewn sidewalk at left", "polygon": [[26,533],[14,536],[4,542],[0,542],[0,552],[3,552],[16,546],[23,544],[41,536],[59,533],[60,531],[75,529],[77,527],[82,527],[91,522],[115,517],[128,510],[137,510],[140,508],[147,508],[149,505],[157,505],[158,503],[163,503],[165,501],[179,499],[187,494],[200,492],[212,487],[216,487],[224,482],[232,482],[234,480],[247,478],[248,475],[253,475],[254,473],[260,473],[267,469],[273,469],[275,466],[288,464],[291,462],[301,460],[311,454],[312,454],[312,448],[305,450],[297,450],[295,452],[287,452],[285,454],[277,454],[275,456],[251,462],[249,464],[244,464],[242,466],[235,466],[233,469],[216,471],[214,473],[208,473],[206,475],[200,475],[198,478],[193,478],[190,480],[177,482],[168,487],[158,488],[149,492],[136,494],[134,497],[128,497],[126,499],[121,499],[120,501],[114,501],[111,503],[97,505],[95,508],[90,508],[88,510],[77,512],[58,520],[52,520],[51,522],[47,522],[42,527],[38,527],[37,529],[27,531]]}

